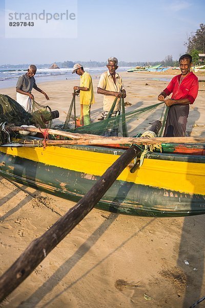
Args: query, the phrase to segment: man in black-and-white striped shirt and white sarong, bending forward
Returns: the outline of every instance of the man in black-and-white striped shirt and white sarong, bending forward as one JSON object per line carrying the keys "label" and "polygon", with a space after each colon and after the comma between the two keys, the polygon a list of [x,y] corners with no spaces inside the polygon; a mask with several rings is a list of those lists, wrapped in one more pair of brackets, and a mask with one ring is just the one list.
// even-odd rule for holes
{"label": "man in black-and-white striped shirt and white sarong, bending forward", "polygon": [[32,111],[32,100],[34,99],[33,94],[31,93],[33,88],[44,94],[46,100],[49,100],[48,95],[43,90],[39,89],[35,83],[34,75],[36,69],[35,65],[30,65],[28,72],[18,77],[16,84],[16,101],[30,113]]}

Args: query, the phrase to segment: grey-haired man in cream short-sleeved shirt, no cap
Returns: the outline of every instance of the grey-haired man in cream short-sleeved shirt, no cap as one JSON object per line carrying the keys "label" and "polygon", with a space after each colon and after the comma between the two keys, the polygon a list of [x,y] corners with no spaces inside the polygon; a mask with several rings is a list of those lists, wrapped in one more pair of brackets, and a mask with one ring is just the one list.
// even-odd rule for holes
{"label": "grey-haired man in cream short-sleeved shirt, no cap", "polygon": [[[126,98],[126,90],[122,83],[121,76],[116,73],[116,69],[118,60],[116,57],[109,57],[107,62],[108,71],[104,72],[100,76],[100,80],[97,86],[97,93],[104,94],[103,99],[103,112],[101,115],[101,119],[104,120],[114,102],[114,98],[116,97],[118,100],[116,102],[114,111],[112,113],[112,117],[116,117],[116,115],[120,114],[120,105],[119,99]],[[118,128],[112,129],[112,131],[107,131],[105,136],[118,136]]]}

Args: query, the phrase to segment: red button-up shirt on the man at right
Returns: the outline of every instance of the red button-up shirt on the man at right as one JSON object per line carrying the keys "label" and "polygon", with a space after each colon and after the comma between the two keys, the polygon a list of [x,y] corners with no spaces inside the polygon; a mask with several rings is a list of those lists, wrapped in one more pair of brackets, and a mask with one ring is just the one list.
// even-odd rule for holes
{"label": "red button-up shirt on the man at right", "polygon": [[180,75],[174,76],[169,85],[163,90],[167,95],[172,93],[173,100],[188,99],[193,104],[198,94],[198,78],[190,72],[179,84]]}

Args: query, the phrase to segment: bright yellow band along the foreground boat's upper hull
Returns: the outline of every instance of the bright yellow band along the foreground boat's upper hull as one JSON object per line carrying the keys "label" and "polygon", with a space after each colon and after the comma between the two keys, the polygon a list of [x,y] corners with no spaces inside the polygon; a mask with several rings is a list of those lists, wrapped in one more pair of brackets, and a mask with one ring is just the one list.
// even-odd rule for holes
{"label": "bright yellow band along the foreground boat's upper hull", "polygon": [[[109,153],[86,151],[73,148],[49,146],[38,147],[1,147],[8,155],[26,158],[64,169],[101,176],[119,157]],[[189,194],[205,195],[205,164],[145,159],[141,168],[131,174],[127,167],[117,180],[141,185],[176,190]]]}

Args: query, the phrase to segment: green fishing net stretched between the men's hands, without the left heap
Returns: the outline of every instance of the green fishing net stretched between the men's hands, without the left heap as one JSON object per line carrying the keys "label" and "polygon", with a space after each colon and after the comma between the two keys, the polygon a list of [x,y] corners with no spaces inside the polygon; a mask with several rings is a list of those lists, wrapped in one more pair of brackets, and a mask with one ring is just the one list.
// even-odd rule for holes
{"label": "green fishing net stretched between the men's hands, without the left heap", "polygon": [[[113,117],[113,110],[115,108],[117,102],[117,98],[114,100],[112,107],[106,117],[106,119],[104,119],[103,121],[99,121],[99,122],[95,122],[86,126],[81,126],[81,127],[77,127],[77,128],[73,128],[73,129],[68,129],[69,128],[69,121],[71,119],[71,112],[72,112],[72,108],[74,108],[74,117],[76,119],[75,116],[75,95],[73,96],[68,114],[67,114],[67,118],[64,124],[63,129],[70,131],[70,132],[76,132],[76,133],[89,133],[89,134],[96,134],[98,136],[122,136],[122,137],[128,137],[129,133],[128,133],[128,124],[132,121],[135,121],[136,126],[134,128],[134,130],[132,130],[132,133],[137,134],[137,131],[141,130],[142,127],[140,127],[140,125],[142,124],[142,122],[145,122],[145,119],[148,118],[148,115],[150,113],[153,113],[153,111],[160,106],[161,104],[163,104],[163,102],[154,104],[154,105],[150,105],[148,107],[144,107],[144,108],[140,108],[134,111],[130,111],[130,112],[125,112],[125,102],[124,99],[120,99],[119,104],[121,106],[121,114],[116,115],[115,117]],[[163,113],[165,112],[165,114],[163,115]],[[165,127],[165,123],[166,123],[166,118],[167,118],[167,110],[162,110],[162,115],[161,115],[161,121],[162,121],[162,128],[158,134],[158,136],[162,135],[163,132],[163,128]],[[159,118],[157,118],[156,120],[158,120]],[[144,125],[147,125],[147,123],[144,123]],[[75,126],[76,126],[76,121],[75,121]],[[146,127],[147,129],[147,127]]]}

